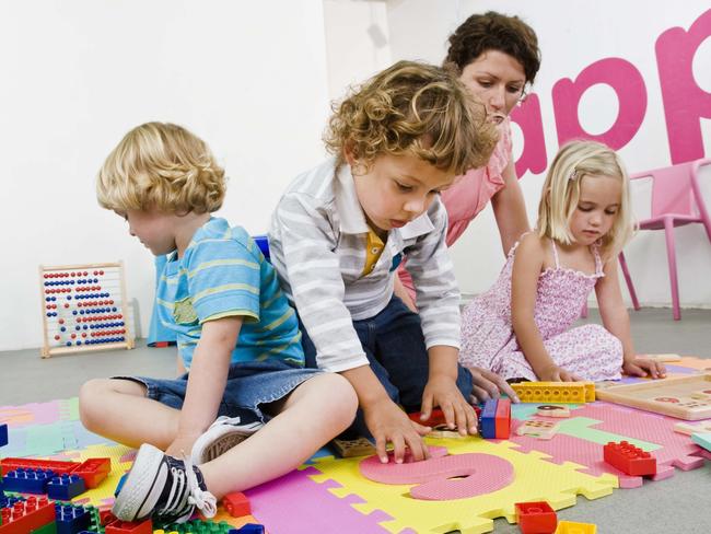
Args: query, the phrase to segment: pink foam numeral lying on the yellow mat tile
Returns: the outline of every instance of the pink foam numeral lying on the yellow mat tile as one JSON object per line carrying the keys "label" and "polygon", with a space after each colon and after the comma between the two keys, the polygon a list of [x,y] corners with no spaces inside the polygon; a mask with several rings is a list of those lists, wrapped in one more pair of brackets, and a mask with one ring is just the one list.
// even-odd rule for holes
{"label": "pink foam numeral lying on the yellow mat tile", "polygon": [[[412,462],[407,455],[403,464],[381,463],[377,456],[363,460],[361,475],[382,484],[420,484],[410,495],[423,500],[466,499],[491,494],[513,481],[513,465],[492,454],[465,453],[447,455],[440,446],[430,448],[431,458]],[[452,480],[454,477],[463,477]]]}

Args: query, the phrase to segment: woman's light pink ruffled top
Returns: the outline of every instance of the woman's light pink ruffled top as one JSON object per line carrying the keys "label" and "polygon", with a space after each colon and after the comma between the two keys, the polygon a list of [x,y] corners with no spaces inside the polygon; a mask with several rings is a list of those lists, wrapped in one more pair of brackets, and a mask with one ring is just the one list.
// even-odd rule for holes
{"label": "woman's light pink ruffled top", "polygon": [[[479,211],[486,208],[491,197],[504,187],[503,170],[511,158],[511,120],[506,117],[499,126],[499,142],[485,167],[470,169],[457,176],[452,187],[442,191],[442,202],[447,210],[447,246],[459,239]],[[415,300],[415,287],[410,274],[405,269],[405,262],[397,274],[403,286]]]}

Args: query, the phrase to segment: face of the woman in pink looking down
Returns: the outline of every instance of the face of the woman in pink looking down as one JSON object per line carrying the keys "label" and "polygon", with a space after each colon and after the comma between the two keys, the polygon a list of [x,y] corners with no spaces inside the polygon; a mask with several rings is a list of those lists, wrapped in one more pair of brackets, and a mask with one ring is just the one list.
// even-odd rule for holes
{"label": "face of the woman in pink looking down", "polygon": [[462,70],[462,82],[487,106],[496,124],[509,116],[523,96],[526,74],[523,66],[500,50],[487,50]]}

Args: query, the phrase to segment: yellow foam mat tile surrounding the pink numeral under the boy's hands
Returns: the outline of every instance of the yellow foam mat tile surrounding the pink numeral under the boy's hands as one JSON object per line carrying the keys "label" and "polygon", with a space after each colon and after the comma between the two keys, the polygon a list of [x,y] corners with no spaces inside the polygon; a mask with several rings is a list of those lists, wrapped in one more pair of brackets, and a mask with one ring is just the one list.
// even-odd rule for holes
{"label": "yellow foam mat tile surrounding the pink numeral under the boy's hands", "polygon": [[[557,465],[545,462],[547,454],[533,451],[522,453],[510,441],[492,442],[481,438],[439,439],[427,438],[429,444],[446,446],[450,454],[486,453],[508,460],[514,466],[514,480],[498,491],[469,499],[450,501],[424,501],[409,496],[413,485],[385,485],[368,480],[360,475],[361,458],[317,458],[313,466],[320,475],[313,475],[316,483],[335,480],[339,488],[334,495],[345,498],[354,494],[364,500],[353,504],[363,514],[382,510],[393,518],[381,522],[389,532],[412,529],[418,533],[445,533],[459,530],[462,534],[478,534],[493,530],[493,518],[504,516],[515,522],[516,502],[546,500],[559,510],[575,503],[576,496],[597,499],[610,495],[618,487],[614,475],[598,477],[579,473],[585,466],[566,462]],[[475,475],[476,476],[476,475]]]}

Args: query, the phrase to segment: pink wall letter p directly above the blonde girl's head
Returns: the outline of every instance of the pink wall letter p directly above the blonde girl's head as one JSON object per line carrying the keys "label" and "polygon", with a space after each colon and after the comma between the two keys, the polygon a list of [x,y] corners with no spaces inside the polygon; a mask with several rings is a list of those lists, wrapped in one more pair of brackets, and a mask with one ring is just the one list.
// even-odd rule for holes
{"label": "pink wall letter p directly above the blonde girl's head", "polygon": [[[607,131],[592,135],[580,124],[579,104],[585,91],[598,83],[613,88],[619,102],[619,113]],[[570,139],[585,138],[619,150],[642,126],[646,89],[642,74],[632,63],[621,58],[605,58],[583,69],[575,81],[569,78],[559,80],[552,89],[552,101],[559,144]]]}

